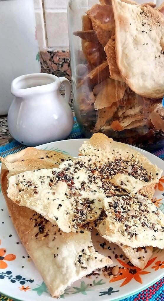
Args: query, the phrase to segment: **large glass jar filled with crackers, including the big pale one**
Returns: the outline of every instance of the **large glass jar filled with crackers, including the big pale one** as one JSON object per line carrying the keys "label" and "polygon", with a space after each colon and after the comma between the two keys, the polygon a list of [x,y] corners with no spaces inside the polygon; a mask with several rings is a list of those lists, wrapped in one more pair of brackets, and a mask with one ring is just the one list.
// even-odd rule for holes
{"label": "large glass jar filled with crackers, including the big pale one", "polygon": [[74,110],[84,135],[163,141],[164,3],[70,0]]}

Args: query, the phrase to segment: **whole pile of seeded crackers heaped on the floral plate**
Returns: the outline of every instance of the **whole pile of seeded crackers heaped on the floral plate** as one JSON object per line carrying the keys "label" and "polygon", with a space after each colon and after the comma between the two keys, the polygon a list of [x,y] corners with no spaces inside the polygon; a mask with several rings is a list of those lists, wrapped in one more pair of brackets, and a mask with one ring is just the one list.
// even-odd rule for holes
{"label": "whole pile of seeded crackers heaped on the floral plate", "polygon": [[12,222],[52,296],[112,268],[110,250],[94,249],[93,228],[141,269],[153,247],[164,248],[164,214],[151,201],[162,170],[133,148],[97,133],[76,159],[29,147],[1,160]]}

